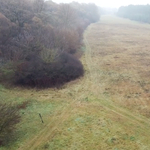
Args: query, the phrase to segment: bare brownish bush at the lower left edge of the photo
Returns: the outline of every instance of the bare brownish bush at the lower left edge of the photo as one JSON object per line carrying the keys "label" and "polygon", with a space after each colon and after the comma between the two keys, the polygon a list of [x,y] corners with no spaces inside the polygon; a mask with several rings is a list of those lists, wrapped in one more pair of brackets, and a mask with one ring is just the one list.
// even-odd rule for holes
{"label": "bare brownish bush at the lower left edge of the photo", "polygon": [[20,122],[19,109],[11,104],[0,103],[0,145],[6,145],[14,139],[17,123]]}

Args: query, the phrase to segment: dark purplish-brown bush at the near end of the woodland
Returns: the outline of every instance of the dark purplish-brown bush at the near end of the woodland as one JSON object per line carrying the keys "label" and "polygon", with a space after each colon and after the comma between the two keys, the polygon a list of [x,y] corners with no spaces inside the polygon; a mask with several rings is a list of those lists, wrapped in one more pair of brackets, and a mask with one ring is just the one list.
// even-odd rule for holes
{"label": "dark purplish-brown bush at the near end of the woodland", "polygon": [[61,86],[83,74],[81,62],[64,52],[53,63],[34,58],[20,64],[15,79],[19,85],[45,88]]}

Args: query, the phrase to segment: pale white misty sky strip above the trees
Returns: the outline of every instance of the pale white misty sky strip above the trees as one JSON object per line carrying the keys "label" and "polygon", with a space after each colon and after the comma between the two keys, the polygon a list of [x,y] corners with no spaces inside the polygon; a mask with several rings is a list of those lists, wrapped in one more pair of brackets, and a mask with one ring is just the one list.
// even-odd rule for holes
{"label": "pale white misty sky strip above the trees", "polygon": [[52,0],[56,3],[69,3],[72,1],[77,1],[79,3],[95,3],[101,7],[120,7],[129,4],[150,4],[150,0]]}

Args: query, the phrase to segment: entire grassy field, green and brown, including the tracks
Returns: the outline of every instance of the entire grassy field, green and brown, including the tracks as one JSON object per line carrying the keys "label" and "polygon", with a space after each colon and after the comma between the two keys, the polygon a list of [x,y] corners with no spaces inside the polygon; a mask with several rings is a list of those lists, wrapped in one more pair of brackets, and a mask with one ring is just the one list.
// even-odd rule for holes
{"label": "entire grassy field, green and brown, including the tracks", "polygon": [[0,86],[1,101],[29,101],[16,142],[0,150],[149,150],[149,31],[102,16],[84,34],[84,77],[59,90]]}

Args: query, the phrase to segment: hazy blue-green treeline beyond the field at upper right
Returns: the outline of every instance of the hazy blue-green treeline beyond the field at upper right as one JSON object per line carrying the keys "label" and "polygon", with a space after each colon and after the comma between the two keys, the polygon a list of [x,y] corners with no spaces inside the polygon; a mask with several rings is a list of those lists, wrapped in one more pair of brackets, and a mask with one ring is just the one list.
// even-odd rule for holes
{"label": "hazy blue-green treeline beyond the field at upper right", "polygon": [[118,16],[150,23],[150,5],[129,5],[119,8]]}

